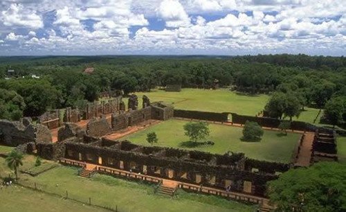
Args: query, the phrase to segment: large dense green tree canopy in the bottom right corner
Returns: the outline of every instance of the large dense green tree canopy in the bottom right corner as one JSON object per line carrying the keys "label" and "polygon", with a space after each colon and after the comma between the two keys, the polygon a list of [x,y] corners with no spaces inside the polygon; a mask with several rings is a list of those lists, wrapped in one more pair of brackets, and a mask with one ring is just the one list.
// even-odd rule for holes
{"label": "large dense green tree canopy in the bottom right corner", "polygon": [[290,169],[268,182],[268,195],[278,211],[345,211],[346,166],[319,162]]}

